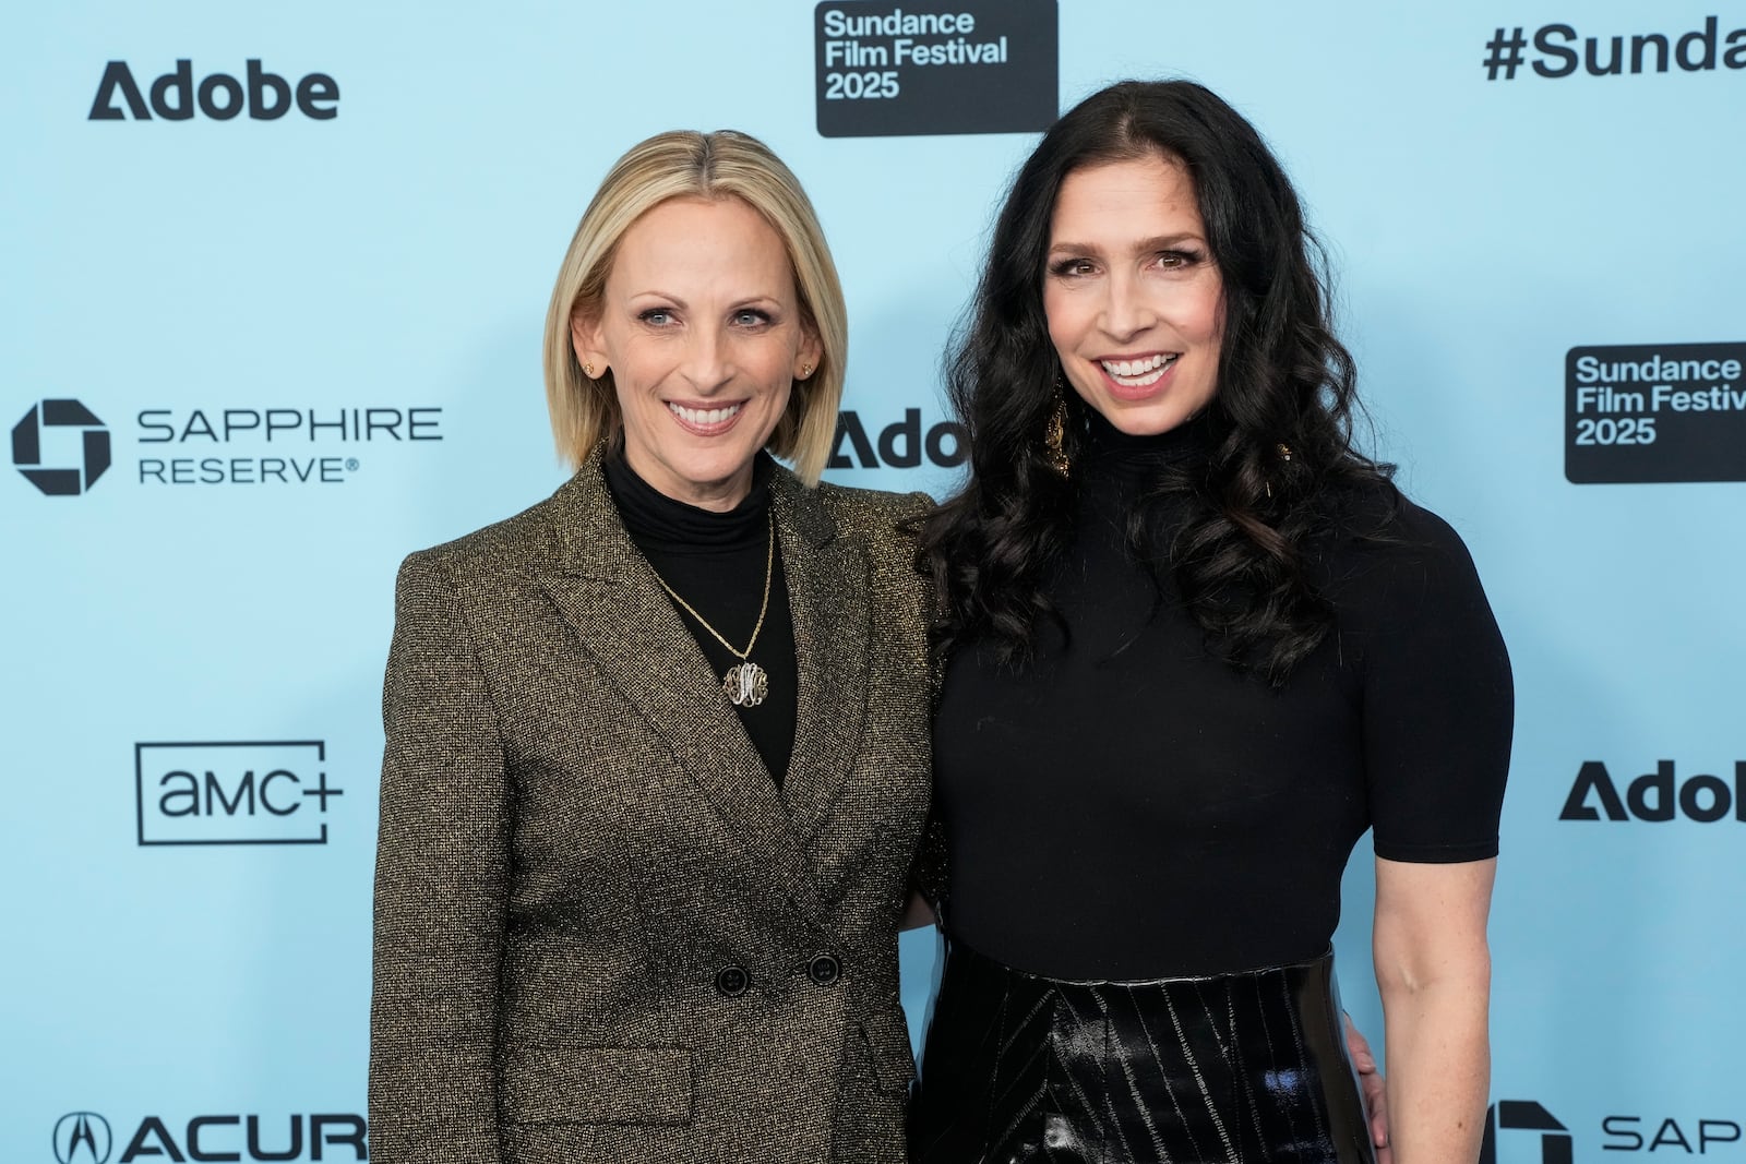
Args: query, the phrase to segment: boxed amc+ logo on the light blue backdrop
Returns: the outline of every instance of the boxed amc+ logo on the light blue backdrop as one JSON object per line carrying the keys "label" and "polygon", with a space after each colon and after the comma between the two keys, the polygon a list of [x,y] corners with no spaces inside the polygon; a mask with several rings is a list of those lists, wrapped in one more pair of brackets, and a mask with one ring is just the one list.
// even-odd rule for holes
{"label": "boxed amc+ logo on the light blue backdrop", "polygon": [[321,740],[134,743],[140,845],[327,845]]}

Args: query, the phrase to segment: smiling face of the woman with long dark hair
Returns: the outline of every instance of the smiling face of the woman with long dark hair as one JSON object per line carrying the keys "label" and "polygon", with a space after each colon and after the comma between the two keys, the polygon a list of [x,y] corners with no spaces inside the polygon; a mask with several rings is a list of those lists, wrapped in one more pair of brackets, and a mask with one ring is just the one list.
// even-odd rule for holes
{"label": "smiling face of the woman with long dark hair", "polygon": [[1042,309],[1067,382],[1123,433],[1166,433],[1219,389],[1224,283],[1194,181],[1149,155],[1067,175]]}

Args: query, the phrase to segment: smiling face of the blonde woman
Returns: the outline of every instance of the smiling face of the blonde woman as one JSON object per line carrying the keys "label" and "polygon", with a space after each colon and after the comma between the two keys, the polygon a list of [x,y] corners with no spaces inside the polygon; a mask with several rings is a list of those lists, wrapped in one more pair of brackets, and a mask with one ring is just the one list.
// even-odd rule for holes
{"label": "smiling face of the blonde woman", "polygon": [[780,236],[746,202],[672,199],[618,241],[576,358],[613,372],[625,459],[662,494],[732,510],[753,459],[819,363]]}

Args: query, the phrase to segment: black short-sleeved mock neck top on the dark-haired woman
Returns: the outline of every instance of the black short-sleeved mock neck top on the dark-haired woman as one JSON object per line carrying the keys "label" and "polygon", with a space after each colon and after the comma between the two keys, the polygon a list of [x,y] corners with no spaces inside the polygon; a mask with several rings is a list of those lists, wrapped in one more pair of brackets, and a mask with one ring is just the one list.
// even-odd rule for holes
{"label": "black short-sleeved mock neck top on the dark-haired woman", "polygon": [[1336,630],[1273,689],[1212,654],[1128,544],[1138,492],[1203,455],[1196,426],[1091,422],[1048,585],[1065,630],[1044,620],[1023,670],[976,642],[946,667],[948,934],[1065,979],[1234,972],[1327,949],[1365,829],[1390,860],[1496,855],[1510,668],[1454,531],[1383,487],[1357,497],[1350,525],[1386,537],[1313,553]]}

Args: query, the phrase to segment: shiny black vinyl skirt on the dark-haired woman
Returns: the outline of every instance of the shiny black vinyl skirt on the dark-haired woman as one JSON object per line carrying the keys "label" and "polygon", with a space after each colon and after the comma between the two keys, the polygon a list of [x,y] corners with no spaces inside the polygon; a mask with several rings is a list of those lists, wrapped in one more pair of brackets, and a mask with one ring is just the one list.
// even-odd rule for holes
{"label": "shiny black vinyl skirt on the dark-haired woman", "polygon": [[911,1164],[1374,1164],[1334,955],[1063,983],[946,953]]}

